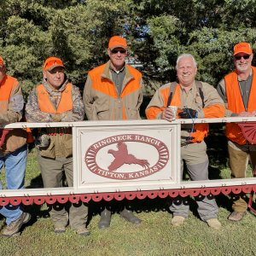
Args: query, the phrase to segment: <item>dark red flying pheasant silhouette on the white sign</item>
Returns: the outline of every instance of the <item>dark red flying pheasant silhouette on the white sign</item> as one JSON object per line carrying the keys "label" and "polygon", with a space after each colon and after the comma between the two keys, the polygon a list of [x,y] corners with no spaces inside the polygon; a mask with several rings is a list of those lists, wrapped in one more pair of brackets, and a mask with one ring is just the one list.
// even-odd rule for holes
{"label": "dark red flying pheasant silhouette on the white sign", "polygon": [[119,167],[128,165],[139,165],[143,166],[145,169],[149,168],[148,160],[137,159],[133,154],[128,154],[127,145],[124,142],[119,142],[117,144],[118,150],[109,149],[108,154],[113,154],[114,160],[108,166],[108,171],[116,171]]}

